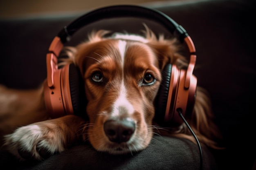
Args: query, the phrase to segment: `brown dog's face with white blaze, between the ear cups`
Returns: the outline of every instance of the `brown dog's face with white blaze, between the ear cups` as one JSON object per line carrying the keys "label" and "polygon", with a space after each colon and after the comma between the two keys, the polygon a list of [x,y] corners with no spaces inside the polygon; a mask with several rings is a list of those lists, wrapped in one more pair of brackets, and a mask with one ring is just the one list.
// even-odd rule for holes
{"label": "brown dog's face with white blaze, between the ear cups", "polygon": [[[149,33],[150,31],[148,31]],[[76,47],[88,99],[84,137],[96,150],[126,153],[146,148],[153,136],[154,99],[167,62],[179,57],[173,41],[150,36],[92,35]],[[175,47],[176,48],[176,47]]]}

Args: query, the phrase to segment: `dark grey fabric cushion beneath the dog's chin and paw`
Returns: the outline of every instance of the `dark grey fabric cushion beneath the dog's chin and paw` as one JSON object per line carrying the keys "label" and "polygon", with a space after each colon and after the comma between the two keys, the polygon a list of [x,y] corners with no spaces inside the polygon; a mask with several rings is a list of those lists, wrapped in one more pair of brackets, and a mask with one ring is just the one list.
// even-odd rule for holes
{"label": "dark grey fabric cushion beneath the dog's chin and paw", "polygon": [[[157,135],[153,137],[148,148],[128,155],[96,152],[92,146],[85,144],[74,146],[43,162],[18,163],[6,152],[0,152],[0,157],[0,165],[11,170],[199,170],[200,166],[196,144],[186,139]],[[217,170],[213,156],[205,147],[203,169]]]}

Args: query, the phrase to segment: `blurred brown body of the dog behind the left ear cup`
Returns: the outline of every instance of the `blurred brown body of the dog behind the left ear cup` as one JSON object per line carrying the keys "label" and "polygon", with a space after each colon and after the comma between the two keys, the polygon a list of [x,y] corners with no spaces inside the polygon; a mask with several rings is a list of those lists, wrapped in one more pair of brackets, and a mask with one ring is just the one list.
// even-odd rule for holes
{"label": "blurred brown body of the dog behind the left ear cup", "polygon": [[48,119],[43,86],[33,90],[11,89],[0,85],[0,134],[17,127]]}

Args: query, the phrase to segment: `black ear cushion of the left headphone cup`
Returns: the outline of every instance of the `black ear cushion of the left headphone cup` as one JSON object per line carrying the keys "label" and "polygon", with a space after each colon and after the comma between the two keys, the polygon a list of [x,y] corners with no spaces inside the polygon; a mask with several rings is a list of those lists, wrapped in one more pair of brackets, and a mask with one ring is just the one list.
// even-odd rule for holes
{"label": "black ear cushion of the left headphone cup", "polygon": [[69,66],[69,83],[74,115],[87,119],[87,99],[85,97],[83,77],[79,71],[79,68],[77,68],[74,64],[70,64]]}

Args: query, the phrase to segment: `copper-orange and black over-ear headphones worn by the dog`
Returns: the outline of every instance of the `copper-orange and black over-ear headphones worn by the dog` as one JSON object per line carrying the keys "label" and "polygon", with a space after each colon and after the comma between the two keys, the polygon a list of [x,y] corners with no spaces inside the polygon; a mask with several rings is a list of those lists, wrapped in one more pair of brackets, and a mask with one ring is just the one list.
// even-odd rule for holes
{"label": "copper-orange and black over-ear headphones worn by the dog", "polygon": [[162,84],[155,99],[155,121],[164,126],[178,126],[183,123],[182,115],[191,115],[195,103],[197,78],[193,75],[196,55],[195,46],[186,30],[164,13],[133,5],[103,7],[74,20],[65,26],[54,38],[46,56],[47,79],[44,82],[44,97],[52,118],[68,114],[86,116],[86,98],[82,75],[74,64],[58,68],[58,56],[71,36],[83,26],[108,18],[139,17],[162,24],[173,36],[184,43],[189,51],[189,65],[186,70],[167,64],[162,74]]}

